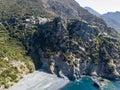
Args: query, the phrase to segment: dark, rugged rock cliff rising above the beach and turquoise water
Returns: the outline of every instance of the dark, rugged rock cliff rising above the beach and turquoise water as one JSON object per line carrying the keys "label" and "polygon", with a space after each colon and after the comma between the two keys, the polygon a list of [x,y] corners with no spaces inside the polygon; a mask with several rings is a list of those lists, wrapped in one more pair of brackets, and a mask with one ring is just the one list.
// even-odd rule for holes
{"label": "dark, rugged rock cliff rising above the beach and turquoise water", "polygon": [[62,73],[71,80],[83,74],[119,78],[120,42],[117,39],[79,20],[66,23],[56,18],[39,27],[31,47],[35,52],[40,51],[44,69],[58,76]]}

